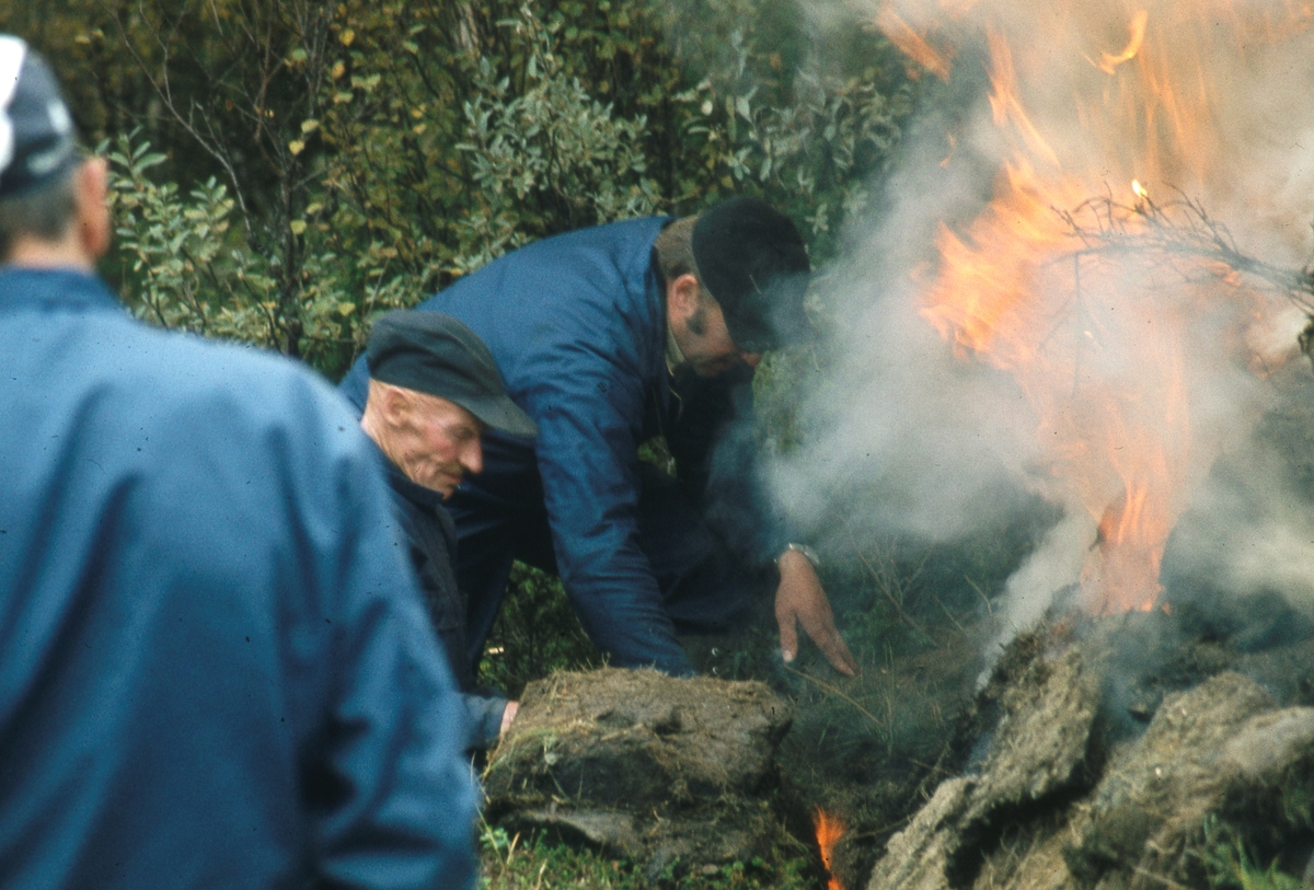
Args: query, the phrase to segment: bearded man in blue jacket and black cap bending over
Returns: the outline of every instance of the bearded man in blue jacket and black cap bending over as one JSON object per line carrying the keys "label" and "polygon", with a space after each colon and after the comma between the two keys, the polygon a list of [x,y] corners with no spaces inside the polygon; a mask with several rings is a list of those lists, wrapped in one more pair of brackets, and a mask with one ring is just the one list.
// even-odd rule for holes
{"label": "bearded man in blue jacket and black cap bending over", "polygon": [[[512,559],[561,576],[585,630],[620,667],[692,672],[683,631],[729,630],[774,589],[781,650],[798,627],[844,673],[815,554],[763,496],[752,378],[807,335],[808,259],[794,223],[735,198],[520,248],[419,305],[489,347],[536,441],[490,432],[484,473],[447,505],[477,663]],[[342,383],[364,404],[357,362]],[[639,458],[664,436],[675,475]]]}

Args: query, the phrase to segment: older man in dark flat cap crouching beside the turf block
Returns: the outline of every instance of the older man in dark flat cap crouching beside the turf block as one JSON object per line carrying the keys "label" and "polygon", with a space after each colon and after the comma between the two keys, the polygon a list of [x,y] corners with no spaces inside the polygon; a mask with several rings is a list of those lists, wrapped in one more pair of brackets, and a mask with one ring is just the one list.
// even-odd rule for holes
{"label": "older man in dark flat cap crouching beside the turf block", "polygon": [[466,748],[494,744],[516,702],[474,688],[465,658],[465,600],[456,585],[456,529],[442,501],[484,466],[485,429],[532,440],[533,421],[506,396],[487,347],[440,312],[380,316],[365,353],[369,394],[360,427],[374,441],[393,488],[399,537],[461,689]]}

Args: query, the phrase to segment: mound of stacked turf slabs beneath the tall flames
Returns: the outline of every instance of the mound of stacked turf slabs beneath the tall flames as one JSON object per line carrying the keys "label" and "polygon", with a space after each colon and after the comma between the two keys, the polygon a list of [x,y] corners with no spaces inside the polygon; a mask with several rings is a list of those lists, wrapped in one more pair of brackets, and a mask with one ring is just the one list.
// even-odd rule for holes
{"label": "mound of stacked turf slabs beneath the tall flames", "polygon": [[1031,655],[1004,685],[988,756],[891,839],[869,890],[1206,886],[1212,837],[1297,845],[1314,708],[1223,669],[1126,734],[1106,642],[1021,643]]}

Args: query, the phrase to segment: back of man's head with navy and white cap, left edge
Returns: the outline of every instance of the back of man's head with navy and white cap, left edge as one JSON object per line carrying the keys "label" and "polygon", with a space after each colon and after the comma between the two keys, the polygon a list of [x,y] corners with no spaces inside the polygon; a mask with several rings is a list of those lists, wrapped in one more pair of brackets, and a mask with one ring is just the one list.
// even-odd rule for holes
{"label": "back of man's head with navy and white cap, left edge", "polygon": [[78,160],[72,116],[46,60],[0,34],[0,260],[22,238],[64,235],[78,206]]}

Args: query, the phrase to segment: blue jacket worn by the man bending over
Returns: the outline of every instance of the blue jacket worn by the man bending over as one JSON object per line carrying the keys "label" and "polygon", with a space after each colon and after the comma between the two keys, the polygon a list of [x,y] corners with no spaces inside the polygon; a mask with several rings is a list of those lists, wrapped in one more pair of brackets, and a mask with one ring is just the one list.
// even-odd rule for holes
{"label": "blue jacket worn by the man bending over", "polygon": [[[675,413],[665,299],[652,264],[653,242],[668,222],[635,219],[536,242],[418,308],[453,315],[480,335],[509,395],[539,425],[536,442],[490,432],[484,473],[464,483],[457,499],[507,511],[545,505],[557,570],[594,643],[620,667],[687,673],[637,530],[637,446],[669,433]],[[342,389],[363,406],[367,383],[361,360]],[[720,403],[746,413],[750,394]],[[702,431],[694,457],[679,461],[682,475],[689,469],[690,478],[702,477],[699,487],[710,466],[706,452],[728,419]],[[756,509],[740,505],[728,512]],[[756,532],[737,537],[752,540],[744,549],[757,558],[770,549]]]}

